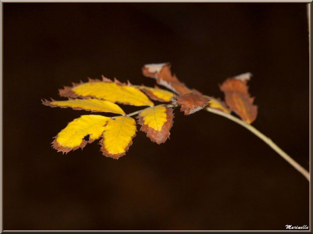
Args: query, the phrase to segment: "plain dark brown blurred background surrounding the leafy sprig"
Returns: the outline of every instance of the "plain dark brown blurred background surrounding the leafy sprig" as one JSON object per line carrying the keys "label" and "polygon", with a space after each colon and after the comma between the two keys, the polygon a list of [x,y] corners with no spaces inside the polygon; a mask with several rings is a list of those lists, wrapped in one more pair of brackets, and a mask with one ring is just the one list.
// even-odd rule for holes
{"label": "plain dark brown blurred background surrounding the leafy sprig", "polygon": [[228,119],[175,110],[170,140],[157,145],[137,132],[116,161],[96,142],[67,155],[51,148],[67,122],[88,112],[40,102],[87,76],[152,86],[145,63],[169,61],[181,81],[215,97],[226,77],[250,71],[253,125],[308,169],[305,4],[3,6],[4,229],[309,224],[309,183]]}

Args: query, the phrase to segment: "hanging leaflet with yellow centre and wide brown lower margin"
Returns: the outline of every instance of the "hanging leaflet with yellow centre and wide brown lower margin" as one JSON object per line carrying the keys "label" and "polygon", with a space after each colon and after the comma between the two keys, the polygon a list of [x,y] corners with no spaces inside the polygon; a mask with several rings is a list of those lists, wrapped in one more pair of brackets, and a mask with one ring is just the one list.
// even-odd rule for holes
{"label": "hanging leaflet with yellow centre and wide brown lower margin", "polygon": [[170,137],[173,117],[172,109],[158,105],[144,109],[137,118],[142,125],[140,130],[146,132],[151,141],[161,144]]}

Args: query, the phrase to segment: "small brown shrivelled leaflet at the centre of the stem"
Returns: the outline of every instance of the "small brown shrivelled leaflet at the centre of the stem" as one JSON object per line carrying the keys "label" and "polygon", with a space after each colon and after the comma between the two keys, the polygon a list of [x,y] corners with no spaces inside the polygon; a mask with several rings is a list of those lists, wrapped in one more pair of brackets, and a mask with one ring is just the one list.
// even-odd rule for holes
{"label": "small brown shrivelled leaflet at the centre of the stem", "polygon": [[177,98],[177,104],[180,105],[180,111],[184,111],[185,115],[193,114],[203,109],[210,98],[195,93],[188,93]]}

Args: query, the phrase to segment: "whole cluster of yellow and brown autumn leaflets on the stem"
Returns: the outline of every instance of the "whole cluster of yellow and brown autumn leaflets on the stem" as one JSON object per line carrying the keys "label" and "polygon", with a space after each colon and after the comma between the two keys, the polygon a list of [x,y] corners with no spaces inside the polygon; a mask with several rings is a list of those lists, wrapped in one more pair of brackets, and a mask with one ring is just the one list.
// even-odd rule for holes
{"label": "whole cluster of yellow and brown autumn leaflets on the stem", "polygon": [[[257,107],[248,93],[247,81],[250,73],[227,79],[220,85],[225,94],[225,102],[221,99],[201,94],[188,88],[171,72],[169,63],[146,64],[142,67],[146,77],[156,80],[158,86],[146,87],[122,83],[102,76],[101,80],[88,79],[88,82],[73,83],[71,87],[59,90],[61,97],[68,100],[42,100],[42,104],[50,107],[72,108],[91,112],[115,113],[119,116],[82,115],[70,122],[59,132],[52,146],[61,152],[69,152],[83,148],[87,143],[100,139],[100,150],[103,155],[119,159],[125,155],[136,136],[136,124],[140,131],[146,133],[151,141],[161,144],[170,137],[173,126],[173,108],[180,106],[185,115],[193,114],[206,106],[223,111],[235,112],[246,123],[251,123],[257,115]],[[164,102],[154,105],[151,101]],[[140,111],[126,114],[118,104],[145,107]],[[136,120],[132,116],[137,115]],[[89,136],[88,140],[84,138]]]}

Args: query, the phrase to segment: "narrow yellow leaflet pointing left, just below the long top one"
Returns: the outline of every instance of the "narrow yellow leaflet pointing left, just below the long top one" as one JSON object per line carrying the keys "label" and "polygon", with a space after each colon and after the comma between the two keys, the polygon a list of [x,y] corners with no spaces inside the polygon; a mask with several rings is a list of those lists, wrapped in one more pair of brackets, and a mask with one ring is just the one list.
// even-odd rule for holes
{"label": "narrow yellow leaflet pointing left, just below the long top one", "polygon": [[92,112],[111,112],[124,115],[125,112],[115,103],[98,99],[70,99],[67,101],[47,101],[43,100],[42,103],[50,107],[71,107],[74,110],[88,110]]}

